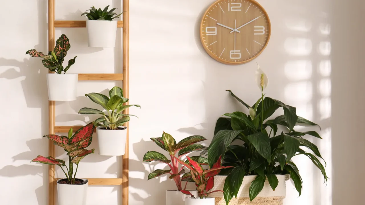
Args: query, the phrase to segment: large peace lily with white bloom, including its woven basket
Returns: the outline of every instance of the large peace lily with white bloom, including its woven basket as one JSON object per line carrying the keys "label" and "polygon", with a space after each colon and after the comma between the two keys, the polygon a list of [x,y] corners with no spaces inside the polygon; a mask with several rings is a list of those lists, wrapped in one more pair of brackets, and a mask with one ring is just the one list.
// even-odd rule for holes
{"label": "large peace lily with white bloom, including its woven basket", "polygon": [[[295,125],[317,124],[298,117],[295,107],[269,97],[264,98],[268,78],[260,67],[256,74],[261,98],[251,107],[227,90],[249,109],[249,115],[234,112],[224,114],[230,118],[220,117],[208,148],[211,166],[222,156],[224,166],[235,167],[222,171],[221,176],[216,176],[217,183],[212,190],[224,190],[223,195],[212,195],[220,197],[219,204],[225,200],[227,205],[241,205],[254,199],[257,204],[264,201],[268,205],[283,204],[286,193],[285,179],[288,175],[300,196],[302,179],[296,164],[291,160],[296,155],[308,156],[322,172],[324,182],[328,181],[325,166],[320,162],[323,158],[318,147],[304,138],[306,135],[312,135],[322,139],[320,135],[315,131],[298,132],[293,129]],[[284,115],[268,120],[278,108],[283,108]],[[278,125],[285,131],[278,134]],[[306,147],[313,154],[301,147]],[[236,199],[232,200],[233,197]]]}

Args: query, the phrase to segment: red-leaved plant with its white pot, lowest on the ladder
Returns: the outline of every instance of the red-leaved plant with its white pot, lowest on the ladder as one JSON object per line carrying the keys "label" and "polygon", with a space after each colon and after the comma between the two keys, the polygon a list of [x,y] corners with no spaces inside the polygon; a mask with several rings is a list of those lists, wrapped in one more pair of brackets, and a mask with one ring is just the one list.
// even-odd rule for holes
{"label": "red-leaved plant with its white pot, lowest on the ladder", "polygon": [[[58,165],[61,167],[62,171],[64,171],[66,178],[57,180],[59,205],[86,205],[88,180],[76,178],[76,173],[80,160],[86,155],[94,153],[94,149],[85,149],[91,144],[94,129],[95,127],[93,123],[89,123],[77,130],[74,135],[72,135],[73,130],[71,128],[69,130],[68,136],[44,136],[52,140],[54,144],[64,148],[69,158],[68,167],[64,160],[55,159],[53,156],[44,157],[39,155],[37,158],[32,160],[32,162],[41,162],[47,165]],[[73,164],[76,164],[76,170],[74,170]],[[64,170],[62,167],[66,167],[66,170]]]}

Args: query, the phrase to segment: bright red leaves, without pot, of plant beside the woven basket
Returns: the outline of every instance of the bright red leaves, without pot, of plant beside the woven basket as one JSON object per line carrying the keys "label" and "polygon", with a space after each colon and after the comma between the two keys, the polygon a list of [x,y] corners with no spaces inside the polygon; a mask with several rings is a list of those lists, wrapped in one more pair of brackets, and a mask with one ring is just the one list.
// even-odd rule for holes
{"label": "bright red leaves, without pot, of plant beside the woven basket", "polygon": [[[223,192],[223,190],[215,190],[212,192],[209,191],[214,187],[214,176],[218,175],[221,169],[233,168],[232,166],[223,167],[222,157],[220,157],[218,161],[214,163],[211,169],[204,170],[199,162],[191,159],[188,156],[187,158],[188,159],[185,162],[181,161],[178,158],[176,158],[176,160],[190,170],[190,173],[185,173],[183,175],[182,180],[195,182],[199,198],[207,198],[209,194],[214,192]],[[187,190],[181,190],[181,192],[183,192],[184,194],[190,194],[192,197],[194,197]]]}

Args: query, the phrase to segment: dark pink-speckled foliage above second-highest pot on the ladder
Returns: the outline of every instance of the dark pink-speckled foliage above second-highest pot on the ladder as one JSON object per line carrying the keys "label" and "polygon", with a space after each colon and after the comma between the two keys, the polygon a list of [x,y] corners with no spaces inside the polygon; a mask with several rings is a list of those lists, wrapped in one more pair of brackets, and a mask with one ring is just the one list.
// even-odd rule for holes
{"label": "dark pink-speckled foliage above second-highest pot on the ladder", "polygon": [[26,54],[29,54],[31,57],[43,58],[42,63],[46,68],[57,74],[62,74],[62,71],[64,71],[64,73],[68,71],[68,69],[75,63],[75,59],[77,57],[75,56],[73,59],[69,60],[69,63],[65,68],[62,66],[62,63],[64,63],[65,60],[64,58],[66,57],[67,51],[70,47],[69,39],[65,34],[62,34],[56,41],[56,46],[53,51],[50,51],[48,55],[38,52],[35,49],[28,50]]}

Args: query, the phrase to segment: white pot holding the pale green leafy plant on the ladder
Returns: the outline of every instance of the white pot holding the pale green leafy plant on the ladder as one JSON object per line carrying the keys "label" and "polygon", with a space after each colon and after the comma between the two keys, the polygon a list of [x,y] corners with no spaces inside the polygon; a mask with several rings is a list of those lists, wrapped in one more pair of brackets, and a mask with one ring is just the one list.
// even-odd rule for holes
{"label": "white pot holding the pale green leafy plant on the ladder", "polygon": [[126,150],[127,127],[124,129],[101,129],[96,128],[97,139],[99,142],[99,154],[104,156],[124,155]]}

